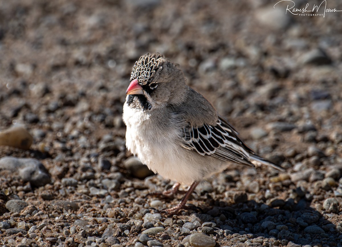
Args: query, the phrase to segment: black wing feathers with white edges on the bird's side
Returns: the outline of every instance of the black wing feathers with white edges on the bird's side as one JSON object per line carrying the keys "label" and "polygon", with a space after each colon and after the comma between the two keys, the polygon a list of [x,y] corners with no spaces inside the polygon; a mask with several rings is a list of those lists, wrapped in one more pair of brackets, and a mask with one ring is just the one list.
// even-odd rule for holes
{"label": "black wing feathers with white edges on the bird's side", "polygon": [[220,117],[215,126],[187,126],[183,132],[183,147],[186,149],[203,156],[254,166],[250,161],[254,152],[240,140],[236,130]]}

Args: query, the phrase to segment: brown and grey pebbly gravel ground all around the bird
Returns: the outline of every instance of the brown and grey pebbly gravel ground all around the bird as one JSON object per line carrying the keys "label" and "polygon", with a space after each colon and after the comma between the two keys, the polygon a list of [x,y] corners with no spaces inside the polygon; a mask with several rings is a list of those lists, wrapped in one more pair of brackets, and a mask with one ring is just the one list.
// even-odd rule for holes
{"label": "brown and grey pebbly gravel ground all around the bird", "polygon": [[[1,1],[0,244],[342,246],[342,14],[275,3]],[[173,182],[126,151],[121,119],[155,51],[288,172],[231,164],[198,210],[160,214],[182,195],[148,195]]]}

